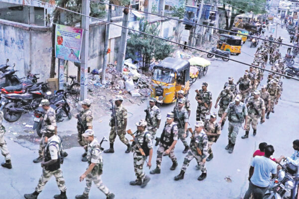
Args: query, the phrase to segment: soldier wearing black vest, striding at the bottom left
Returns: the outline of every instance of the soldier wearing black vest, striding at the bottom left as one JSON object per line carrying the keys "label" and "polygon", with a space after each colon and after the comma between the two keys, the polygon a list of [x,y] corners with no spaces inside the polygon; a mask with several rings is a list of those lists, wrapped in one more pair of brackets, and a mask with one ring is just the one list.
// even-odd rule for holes
{"label": "soldier wearing black vest, striding at the bottom left", "polygon": [[67,199],[65,181],[60,169],[61,156],[61,139],[55,135],[55,127],[52,125],[46,126],[41,131],[44,134],[46,147],[44,148],[44,160],[41,162],[42,175],[39,178],[38,185],[32,194],[25,194],[25,199],[37,199],[37,196],[42,192],[46,183],[52,176],[56,178],[57,186],[60,190],[60,195],[55,195],[54,199]]}

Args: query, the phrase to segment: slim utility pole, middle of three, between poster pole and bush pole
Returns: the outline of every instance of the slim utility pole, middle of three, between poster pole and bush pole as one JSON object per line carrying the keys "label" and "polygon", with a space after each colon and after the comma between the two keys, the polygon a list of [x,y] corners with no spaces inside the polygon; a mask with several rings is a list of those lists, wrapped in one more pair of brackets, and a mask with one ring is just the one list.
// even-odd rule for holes
{"label": "slim utility pole, middle of three, between poster pole and bush pole", "polygon": [[[111,1],[109,1],[111,4]],[[111,13],[112,13],[112,5],[109,5],[108,8],[108,22],[111,22]],[[108,42],[109,42],[109,34],[110,34],[110,23],[106,24],[106,32],[105,32],[105,43],[104,43],[104,54],[103,54],[103,66],[102,66],[102,84],[106,84],[106,67],[107,67],[107,57],[108,57]]]}

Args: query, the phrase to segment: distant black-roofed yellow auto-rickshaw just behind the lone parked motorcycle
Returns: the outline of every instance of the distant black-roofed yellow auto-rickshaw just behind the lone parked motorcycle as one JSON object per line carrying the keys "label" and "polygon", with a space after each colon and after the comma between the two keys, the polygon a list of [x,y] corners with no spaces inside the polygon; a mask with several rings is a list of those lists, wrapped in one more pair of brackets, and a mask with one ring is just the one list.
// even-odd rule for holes
{"label": "distant black-roofed yellow auto-rickshaw just behind the lone parked motorcycle", "polygon": [[220,34],[217,48],[220,50],[230,51],[236,55],[241,53],[242,38],[235,35]]}

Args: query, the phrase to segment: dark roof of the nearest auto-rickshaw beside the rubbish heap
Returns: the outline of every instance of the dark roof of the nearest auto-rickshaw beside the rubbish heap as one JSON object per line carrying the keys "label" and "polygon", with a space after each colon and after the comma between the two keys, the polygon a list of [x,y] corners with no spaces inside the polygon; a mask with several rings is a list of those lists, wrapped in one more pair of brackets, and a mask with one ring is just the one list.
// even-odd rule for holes
{"label": "dark roof of the nearest auto-rickshaw beside the rubbish heap", "polygon": [[161,69],[170,70],[174,72],[180,72],[186,70],[189,67],[190,67],[190,63],[187,60],[182,60],[173,57],[166,57],[165,59],[163,59],[163,61],[155,65],[153,69],[161,68]]}

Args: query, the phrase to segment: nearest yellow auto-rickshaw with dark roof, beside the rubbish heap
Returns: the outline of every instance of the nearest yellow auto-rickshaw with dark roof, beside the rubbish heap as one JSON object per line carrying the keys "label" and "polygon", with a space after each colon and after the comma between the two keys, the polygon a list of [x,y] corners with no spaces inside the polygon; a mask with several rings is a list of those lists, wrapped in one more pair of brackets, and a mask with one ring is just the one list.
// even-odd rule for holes
{"label": "nearest yellow auto-rickshaw with dark roof, beside the rubbish heap", "polygon": [[176,100],[177,92],[183,90],[185,96],[190,90],[190,63],[187,60],[167,57],[152,70],[150,97],[163,97],[163,103]]}

